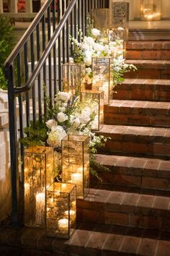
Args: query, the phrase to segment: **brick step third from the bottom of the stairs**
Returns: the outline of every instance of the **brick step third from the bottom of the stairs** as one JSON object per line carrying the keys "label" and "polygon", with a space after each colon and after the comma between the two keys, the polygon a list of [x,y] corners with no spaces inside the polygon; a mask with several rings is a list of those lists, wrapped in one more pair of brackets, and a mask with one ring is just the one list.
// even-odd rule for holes
{"label": "brick step third from the bottom of the stairs", "polygon": [[148,189],[147,192],[151,195],[170,196],[170,161],[122,155],[97,155],[97,162],[107,166],[110,171],[98,171],[102,182],[91,176],[92,187],[98,184],[100,188],[120,187],[123,191],[138,188],[141,192]]}

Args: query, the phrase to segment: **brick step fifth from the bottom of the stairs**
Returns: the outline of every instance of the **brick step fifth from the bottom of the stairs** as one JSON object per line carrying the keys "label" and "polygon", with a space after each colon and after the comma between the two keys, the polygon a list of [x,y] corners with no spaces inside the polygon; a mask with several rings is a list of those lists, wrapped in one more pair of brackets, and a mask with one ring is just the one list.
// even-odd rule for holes
{"label": "brick step fifth from the bottom of the stairs", "polygon": [[104,106],[104,124],[170,127],[170,102],[113,100]]}

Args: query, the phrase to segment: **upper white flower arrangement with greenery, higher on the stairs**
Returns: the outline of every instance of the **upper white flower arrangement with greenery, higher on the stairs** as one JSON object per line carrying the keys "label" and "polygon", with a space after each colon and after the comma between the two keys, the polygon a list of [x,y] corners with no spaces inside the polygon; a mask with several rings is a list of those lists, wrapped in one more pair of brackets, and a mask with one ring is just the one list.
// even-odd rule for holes
{"label": "upper white flower arrangement with greenery, higher on the stairs", "polygon": [[[87,35],[83,36],[82,31],[79,30],[80,42],[76,38],[70,37],[71,44],[73,45],[72,57],[75,63],[84,63],[86,67],[91,67],[92,57],[114,58],[111,70],[113,88],[125,80],[123,76],[126,72],[136,70],[133,64],[125,63],[124,42],[120,37],[122,30],[122,27],[117,27],[117,30],[112,30],[112,33],[110,33],[109,30],[107,34],[107,31],[100,31],[94,28],[93,22],[90,21],[88,16],[86,27]],[[88,81],[88,83],[90,83],[92,77],[92,71],[86,72],[85,80]]]}

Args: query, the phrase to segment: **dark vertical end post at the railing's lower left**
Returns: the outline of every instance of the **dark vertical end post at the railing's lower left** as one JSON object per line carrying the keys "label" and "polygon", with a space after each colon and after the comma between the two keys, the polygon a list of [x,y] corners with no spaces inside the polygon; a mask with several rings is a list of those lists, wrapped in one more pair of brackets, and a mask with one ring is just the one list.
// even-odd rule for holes
{"label": "dark vertical end post at the railing's lower left", "polygon": [[17,145],[17,115],[14,95],[14,67],[11,65],[5,70],[8,80],[8,102],[9,102],[9,135],[10,135],[10,158],[11,158],[11,182],[12,182],[12,216],[11,225],[19,226],[18,215],[18,145]]}

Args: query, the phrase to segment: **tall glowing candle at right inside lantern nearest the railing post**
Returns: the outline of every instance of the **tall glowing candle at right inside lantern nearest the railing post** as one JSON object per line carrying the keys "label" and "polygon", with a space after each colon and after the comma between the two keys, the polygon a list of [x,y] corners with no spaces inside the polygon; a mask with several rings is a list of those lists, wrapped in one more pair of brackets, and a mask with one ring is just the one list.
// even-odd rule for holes
{"label": "tall glowing candle at right inside lantern nearest the railing post", "polygon": [[35,222],[37,225],[41,225],[44,221],[44,209],[45,208],[45,194],[38,193],[36,195],[36,213]]}

